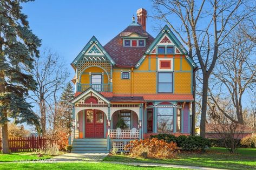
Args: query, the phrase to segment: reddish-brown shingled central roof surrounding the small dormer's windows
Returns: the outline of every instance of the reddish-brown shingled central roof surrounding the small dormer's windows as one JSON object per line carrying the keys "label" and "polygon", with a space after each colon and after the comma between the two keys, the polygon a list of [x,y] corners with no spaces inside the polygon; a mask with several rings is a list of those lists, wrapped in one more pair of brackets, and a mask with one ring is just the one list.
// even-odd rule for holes
{"label": "reddish-brown shingled central roof surrounding the small dormer's windows", "polygon": [[[131,33],[137,33],[138,35],[147,36],[145,47],[126,47],[123,46],[124,35],[130,35]],[[139,24],[130,24],[126,29],[120,32],[117,36],[111,39],[104,49],[109,53],[109,55],[116,62],[116,66],[130,66],[134,67],[136,63],[141,59],[143,54],[146,52],[150,44],[154,41],[147,31],[143,30],[142,26]]]}

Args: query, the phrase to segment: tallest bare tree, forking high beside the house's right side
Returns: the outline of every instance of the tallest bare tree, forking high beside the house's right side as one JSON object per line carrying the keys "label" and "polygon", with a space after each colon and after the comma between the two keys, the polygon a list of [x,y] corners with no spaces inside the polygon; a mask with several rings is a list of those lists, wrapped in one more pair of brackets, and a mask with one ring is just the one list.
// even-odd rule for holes
{"label": "tallest bare tree, forking high beside the house's right side", "polygon": [[[168,23],[183,43],[192,46],[199,60],[202,76],[200,135],[205,137],[209,77],[216,60],[226,50],[221,51],[228,35],[242,21],[255,15],[255,1],[153,0],[153,3],[156,18]],[[182,31],[186,32],[185,36]]]}

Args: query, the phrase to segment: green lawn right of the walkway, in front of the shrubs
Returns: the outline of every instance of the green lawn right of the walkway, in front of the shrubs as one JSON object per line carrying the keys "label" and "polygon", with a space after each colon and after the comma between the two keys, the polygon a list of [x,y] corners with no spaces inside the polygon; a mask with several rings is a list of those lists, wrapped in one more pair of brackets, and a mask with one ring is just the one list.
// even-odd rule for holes
{"label": "green lawn right of the walkway, in front of the shrubs", "polygon": [[238,154],[229,154],[225,148],[211,148],[204,154],[178,154],[174,159],[131,158],[128,155],[109,155],[103,161],[143,162],[157,164],[173,164],[201,166],[224,169],[256,169],[256,149],[240,148]]}

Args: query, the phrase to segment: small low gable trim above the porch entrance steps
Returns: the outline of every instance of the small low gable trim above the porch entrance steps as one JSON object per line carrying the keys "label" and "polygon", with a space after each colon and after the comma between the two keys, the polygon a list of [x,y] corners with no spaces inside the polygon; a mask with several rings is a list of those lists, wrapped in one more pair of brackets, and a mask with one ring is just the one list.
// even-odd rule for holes
{"label": "small low gable trim above the porch entrance steps", "polygon": [[84,91],[83,93],[79,94],[77,97],[72,99],[70,102],[72,104],[75,104],[75,103],[83,104],[86,101],[86,99],[90,96],[95,97],[101,104],[103,104],[103,103],[109,104],[110,103],[110,101],[108,99],[106,99],[104,96],[102,96],[101,93],[97,92],[96,90],[94,90],[91,87],[89,89],[87,89],[86,91]]}

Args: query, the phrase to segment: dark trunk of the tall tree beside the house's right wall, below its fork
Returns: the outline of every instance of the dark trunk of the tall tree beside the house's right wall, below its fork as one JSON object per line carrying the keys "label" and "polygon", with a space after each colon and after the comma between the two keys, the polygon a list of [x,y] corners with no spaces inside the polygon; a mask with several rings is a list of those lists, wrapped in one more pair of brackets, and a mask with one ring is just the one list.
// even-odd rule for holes
{"label": "dark trunk of the tall tree beside the house's right wall, below its fork", "polygon": [[208,81],[209,76],[204,73],[202,83],[202,111],[200,120],[200,137],[205,138],[205,124],[206,124],[206,112],[207,112],[207,98],[208,98]]}

